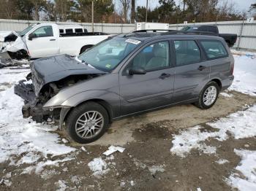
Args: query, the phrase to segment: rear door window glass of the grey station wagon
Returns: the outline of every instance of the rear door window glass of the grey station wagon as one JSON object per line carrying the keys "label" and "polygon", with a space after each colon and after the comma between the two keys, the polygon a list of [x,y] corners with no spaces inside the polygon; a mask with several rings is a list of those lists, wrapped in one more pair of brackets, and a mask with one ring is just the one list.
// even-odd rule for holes
{"label": "rear door window glass of the grey station wagon", "polygon": [[174,41],[176,52],[176,66],[200,62],[201,52],[193,40]]}

